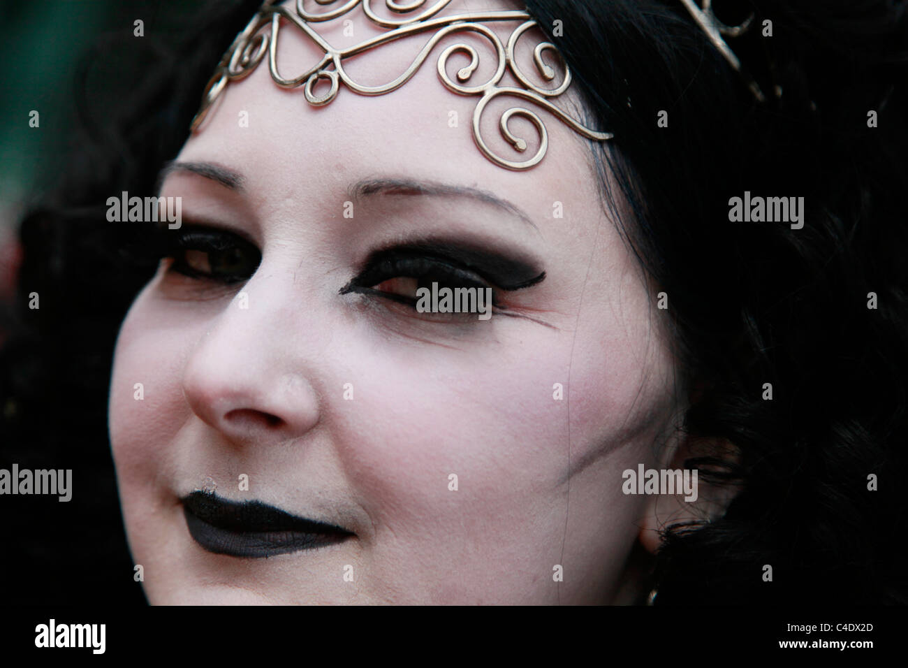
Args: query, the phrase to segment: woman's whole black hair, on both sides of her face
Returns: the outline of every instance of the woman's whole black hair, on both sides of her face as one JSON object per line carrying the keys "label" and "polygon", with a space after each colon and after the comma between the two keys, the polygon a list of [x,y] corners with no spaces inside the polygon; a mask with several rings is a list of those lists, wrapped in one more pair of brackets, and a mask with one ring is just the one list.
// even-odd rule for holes
{"label": "woman's whole black hair, on both sides of her face", "polygon": [[[104,105],[104,125],[86,114],[88,136],[56,199],[22,224],[21,294],[0,353],[4,457],[25,465],[65,453],[67,438],[96,444],[69,456],[97,470],[97,494],[79,502],[104,517],[97,532],[118,522],[104,447],[110,354],[153,270],[109,252],[135,240],[132,227],[104,223],[104,201],[120,190],[151,192],[212,66],[256,5],[206,7],[188,22],[192,35],[174,34],[154,65],[142,66],[140,85]],[[570,67],[586,125],[616,135],[591,145],[591,157],[604,205],[668,297],[671,343],[696,389],[684,429],[735,446],[733,457],[688,464],[740,491],[711,523],[666,527],[656,603],[908,603],[897,549],[908,444],[906,4],[717,7],[755,13],[756,35],[733,48],[763,87],[762,104],[680,2],[525,5]],[[765,20],[772,36],[761,34]],[[80,90],[91,90],[87,79]],[[101,108],[96,99],[84,107]],[[729,221],[729,199],[746,191],[803,196],[804,227]],[[40,310],[27,307],[32,292]],[[55,458],[54,467],[65,461],[75,460]],[[32,537],[15,567],[49,563],[42,536],[20,528]],[[84,526],[68,537],[70,567],[100,573],[76,529]],[[131,571],[120,534],[107,540],[104,565]],[[121,577],[98,574],[93,591]],[[29,586],[45,601],[63,595],[53,583]]]}

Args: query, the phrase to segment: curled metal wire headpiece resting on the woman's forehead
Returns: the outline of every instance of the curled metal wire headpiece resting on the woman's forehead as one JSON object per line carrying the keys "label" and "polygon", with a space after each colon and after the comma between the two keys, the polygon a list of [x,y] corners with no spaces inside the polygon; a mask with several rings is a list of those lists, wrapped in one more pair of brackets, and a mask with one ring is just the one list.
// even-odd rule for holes
{"label": "curled metal wire headpiece resting on the woman's forehead", "polygon": [[[387,6],[403,6],[394,0],[385,0]],[[199,132],[202,122],[224,88],[232,81],[249,75],[263,60],[268,62],[268,71],[276,85],[285,89],[301,89],[301,97],[313,106],[330,105],[344,93],[358,95],[386,95],[393,93],[419,71],[430,57],[435,61],[439,85],[451,93],[479,98],[472,115],[473,140],[479,151],[498,166],[514,171],[526,170],[538,165],[548,152],[548,130],[546,120],[552,118],[568,125],[570,129],[587,139],[606,141],[613,135],[597,132],[582,125],[565,110],[566,105],[555,101],[565,95],[571,86],[568,67],[558,57],[558,49],[547,41],[540,41],[536,22],[528,13],[515,9],[486,9],[477,11],[451,0],[436,2],[412,2],[406,4],[407,11],[395,11],[390,15],[379,14],[375,0],[328,0],[312,11],[309,3],[296,2],[275,5],[266,2],[252,17],[249,25],[237,35],[233,44],[223,55],[212,79],[205,87],[202,107],[192,120],[191,129]],[[489,6],[489,5],[484,5]],[[508,6],[508,5],[504,5]],[[458,7],[460,8],[458,10]],[[453,8],[453,11],[444,11]],[[355,16],[358,22],[368,21],[379,29],[379,34],[354,39],[350,44],[332,45],[324,28],[328,21]],[[494,29],[493,27],[494,26]],[[501,27],[506,29],[501,32]],[[292,30],[296,35],[311,41],[318,48],[318,58],[309,69],[288,74],[278,63],[278,44],[284,31]],[[475,39],[457,41],[456,37],[469,35],[485,40],[488,47],[484,53],[474,46]],[[380,53],[380,49],[395,41],[421,36],[423,45],[416,49],[409,65],[400,72],[392,73],[380,85],[365,84],[350,75],[345,67],[347,59],[353,56],[369,57]],[[527,40],[530,48],[518,50],[518,42]],[[528,62],[518,62],[517,55],[532,54]],[[459,55],[453,62],[464,63],[452,72],[453,62],[449,58]],[[480,59],[490,59],[494,65],[492,75],[476,75]],[[522,61],[522,57],[520,58]],[[483,70],[488,71],[489,68]],[[508,75],[506,78],[505,75]],[[540,81],[549,85],[540,85]],[[511,83],[516,82],[516,83]],[[327,88],[327,92],[325,89]],[[509,155],[500,155],[490,146],[480,132],[480,118],[491,101],[497,98],[514,101],[498,118],[501,140],[509,147]],[[569,105],[568,105],[569,106]],[[541,115],[540,115],[541,114]],[[518,136],[508,123],[513,116],[526,119],[536,129],[536,136]],[[529,152],[531,145],[537,145],[535,153]],[[525,155],[529,157],[523,157]],[[517,159],[523,158],[523,159]]]}

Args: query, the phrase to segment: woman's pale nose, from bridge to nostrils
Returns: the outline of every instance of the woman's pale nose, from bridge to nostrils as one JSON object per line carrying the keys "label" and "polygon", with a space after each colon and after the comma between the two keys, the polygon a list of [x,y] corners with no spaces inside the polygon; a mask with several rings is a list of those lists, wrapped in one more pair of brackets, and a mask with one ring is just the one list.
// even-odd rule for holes
{"label": "woman's pale nose, from bridge to nostrils", "polygon": [[234,444],[280,443],[319,422],[319,394],[300,337],[284,334],[292,317],[280,292],[251,289],[213,316],[184,366],[183,394],[194,414]]}

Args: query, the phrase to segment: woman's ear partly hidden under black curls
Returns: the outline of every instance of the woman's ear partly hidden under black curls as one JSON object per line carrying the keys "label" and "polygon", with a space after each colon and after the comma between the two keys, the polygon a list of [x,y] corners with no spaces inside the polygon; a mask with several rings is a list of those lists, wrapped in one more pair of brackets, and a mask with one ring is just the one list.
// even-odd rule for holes
{"label": "woman's ear partly hidden under black curls", "polygon": [[[697,457],[706,458],[708,464],[700,464],[699,469],[686,469],[685,462]],[[656,470],[658,483],[672,477],[675,482],[684,481],[685,484],[680,485],[680,489],[679,485],[675,485],[675,494],[667,494],[667,485],[659,484],[656,487],[659,494],[648,497],[646,514],[639,521],[639,538],[646,551],[654,554],[662,545],[661,533],[667,526],[710,523],[725,514],[729,503],[740,491],[737,484],[717,484],[704,475],[707,472],[727,472],[727,468],[720,464],[722,462],[736,464],[740,461],[738,449],[724,439],[682,436],[675,444],[666,447],[660,460],[662,468]],[[664,474],[664,471],[674,474]]]}

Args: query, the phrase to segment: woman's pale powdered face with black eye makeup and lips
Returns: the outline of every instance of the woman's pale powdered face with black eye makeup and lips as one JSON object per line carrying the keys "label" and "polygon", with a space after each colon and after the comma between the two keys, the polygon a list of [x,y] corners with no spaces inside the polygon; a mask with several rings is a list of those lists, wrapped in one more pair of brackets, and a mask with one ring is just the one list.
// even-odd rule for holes
{"label": "woman's pale powdered face with black eye makeup and lips", "polygon": [[[370,35],[347,18],[353,36],[319,32]],[[491,25],[504,38],[514,26]],[[483,80],[488,46],[451,41],[477,45]],[[655,295],[602,211],[585,140],[540,112],[542,163],[494,165],[473,142],[478,98],[439,82],[443,47],[397,91],[341,85],[323,107],[275,85],[266,59],[183,146],[190,165],[169,170],[161,194],[183,198],[183,226],[164,234],[181,249],[123,323],[110,397],[152,603],[623,600],[646,497],[622,494],[622,472],[657,465],[677,410]],[[418,48],[393,43],[350,72],[389,81]],[[281,29],[282,75],[317,55]],[[499,117],[484,115],[484,136]],[[511,128],[535,140],[524,119]],[[498,308],[418,313],[393,299],[414,294],[412,274],[485,281]],[[191,533],[183,499],[198,490],[352,535],[307,549],[302,525],[254,533],[259,506],[218,503],[192,505]]]}

